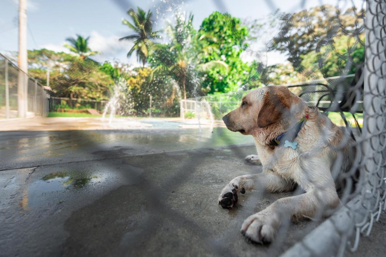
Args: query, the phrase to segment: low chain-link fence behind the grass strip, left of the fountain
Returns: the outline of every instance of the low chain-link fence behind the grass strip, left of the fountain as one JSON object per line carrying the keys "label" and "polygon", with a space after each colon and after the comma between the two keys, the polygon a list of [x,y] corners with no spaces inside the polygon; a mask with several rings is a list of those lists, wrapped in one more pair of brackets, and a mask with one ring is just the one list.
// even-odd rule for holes
{"label": "low chain-link fence behind the grass strip, left of the fountain", "polygon": [[103,112],[108,101],[51,96],[48,103],[48,110],[50,112],[57,112],[63,109],[96,109],[99,112]]}

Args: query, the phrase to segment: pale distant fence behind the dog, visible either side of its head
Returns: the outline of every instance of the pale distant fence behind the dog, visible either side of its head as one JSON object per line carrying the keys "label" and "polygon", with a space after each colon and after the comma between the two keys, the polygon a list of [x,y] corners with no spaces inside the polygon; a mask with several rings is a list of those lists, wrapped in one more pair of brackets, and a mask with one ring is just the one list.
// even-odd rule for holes
{"label": "pale distant fence behind the dog, visible either side of its head", "polygon": [[[327,109],[332,104],[332,98],[338,92],[346,92],[350,87],[354,74],[336,76],[331,78],[315,79],[297,83],[284,84],[295,95],[300,96],[309,105],[317,106],[320,109]],[[241,104],[241,98],[253,91],[235,91],[217,95],[200,96],[180,101],[181,118],[207,118],[211,116],[215,120],[221,120],[223,115],[234,110]],[[337,101],[340,103],[340,101]],[[362,101],[358,102],[362,105]],[[362,110],[362,106],[359,108]]]}

